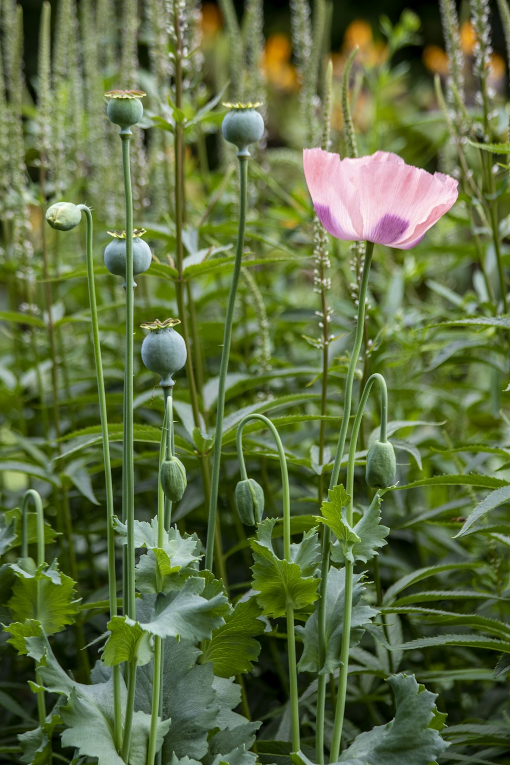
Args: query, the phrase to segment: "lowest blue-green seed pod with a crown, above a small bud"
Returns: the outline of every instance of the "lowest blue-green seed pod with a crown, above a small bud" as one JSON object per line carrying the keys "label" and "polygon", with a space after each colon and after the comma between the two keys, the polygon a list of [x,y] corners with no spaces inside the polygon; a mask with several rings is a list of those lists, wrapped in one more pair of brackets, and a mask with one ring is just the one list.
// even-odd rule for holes
{"label": "lowest blue-green seed pod with a crown, above a small bud", "polygon": [[173,376],[182,369],[187,360],[186,343],[178,334],[174,324],[180,324],[179,319],[166,321],[148,321],[141,326],[151,332],[141,343],[141,360],[151,372],[161,375],[160,385],[171,388],[174,386]]}

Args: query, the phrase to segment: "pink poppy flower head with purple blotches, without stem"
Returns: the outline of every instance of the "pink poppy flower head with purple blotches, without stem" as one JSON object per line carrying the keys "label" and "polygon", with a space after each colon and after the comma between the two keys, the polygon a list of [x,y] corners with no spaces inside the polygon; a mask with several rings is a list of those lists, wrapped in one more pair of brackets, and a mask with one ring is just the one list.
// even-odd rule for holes
{"label": "pink poppy flower head with purple blotches, without stem", "polygon": [[414,168],[389,151],[340,160],[305,148],[303,165],[317,216],[336,239],[411,249],[458,196],[454,178]]}

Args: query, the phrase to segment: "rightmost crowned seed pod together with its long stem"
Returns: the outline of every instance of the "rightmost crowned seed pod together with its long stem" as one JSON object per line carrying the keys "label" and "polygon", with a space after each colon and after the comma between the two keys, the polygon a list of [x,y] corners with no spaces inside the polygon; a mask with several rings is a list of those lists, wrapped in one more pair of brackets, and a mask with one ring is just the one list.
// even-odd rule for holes
{"label": "rightmost crowned seed pod together with its long stem", "polygon": [[207,542],[205,567],[213,568],[214,537],[216,532],[216,509],[218,504],[219,463],[221,461],[221,445],[223,433],[223,415],[225,413],[226,373],[229,369],[230,341],[232,340],[232,321],[234,305],[236,304],[237,285],[241,273],[242,250],[245,244],[246,205],[248,198],[248,160],[250,144],[260,140],[264,133],[264,120],[255,109],[258,104],[226,104],[229,107],[223,120],[223,136],[229,143],[237,146],[239,159],[239,229],[236,244],[236,260],[229,291],[229,302],[226,309],[225,332],[219,366],[218,399],[216,405],[216,433],[214,438],[213,467],[211,475],[211,493],[209,502],[209,518],[207,520]]}

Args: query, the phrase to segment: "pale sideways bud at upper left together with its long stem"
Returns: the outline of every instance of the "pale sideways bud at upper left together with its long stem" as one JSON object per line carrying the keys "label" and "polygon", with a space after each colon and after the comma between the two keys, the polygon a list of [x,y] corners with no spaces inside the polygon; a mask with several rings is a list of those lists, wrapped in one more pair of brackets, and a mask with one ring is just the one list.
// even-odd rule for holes
{"label": "pale sideways bud at upper left together with its long stem", "polygon": [[[80,223],[82,213],[86,219],[86,271],[89,288],[90,317],[92,321],[94,362],[96,365],[97,394],[99,400],[99,421],[101,423],[102,458],[105,462],[106,482],[106,548],[108,550],[108,592],[110,619],[117,615],[117,578],[115,574],[115,508],[113,503],[112,467],[108,437],[108,416],[106,413],[105,379],[102,371],[101,343],[99,340],[99,320],[97,315],[96,285],[94,282],[93,260],[93,216],[84,204],[71,202],[53,204],[46,212],[50,226],[59,231],[70,231]],[[120,667],[113,668],[114,690],[114,725],[115,743],[120,748],[122,743],[122,710]]]}

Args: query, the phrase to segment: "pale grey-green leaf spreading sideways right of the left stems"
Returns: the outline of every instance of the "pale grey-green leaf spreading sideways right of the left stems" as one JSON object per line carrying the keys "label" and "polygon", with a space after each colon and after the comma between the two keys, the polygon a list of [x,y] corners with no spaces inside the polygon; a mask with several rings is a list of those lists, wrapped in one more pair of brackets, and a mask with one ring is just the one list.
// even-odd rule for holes
{"label": "pale grey-green leaf spreading sideways right of the left stems", "polygon": [[[151,620],[140,623],[142,630],[160,637],[183,638],[191,642],[210,640],[213,630],[225,623],[230,613],[229,601],[223,592],[209,600],[202,597],[206,588],[203,577],[194,576],[177,592],[159,595]],[[128,624],[135,621],[126,617]]]}

